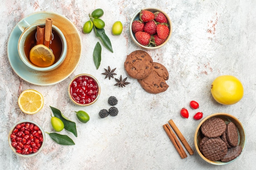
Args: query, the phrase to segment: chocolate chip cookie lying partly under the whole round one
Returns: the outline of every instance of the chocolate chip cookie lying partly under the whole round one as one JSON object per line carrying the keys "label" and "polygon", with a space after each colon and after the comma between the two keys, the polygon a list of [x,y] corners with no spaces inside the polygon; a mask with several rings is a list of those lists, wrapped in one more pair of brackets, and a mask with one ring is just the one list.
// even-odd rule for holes
{"label": "chocolate chip cookie lying partly under the whole round one", "polygon": [[146,92],[157,94],[168,89],[169,86],[166,84],[168,78],[169,74],[164,65],[154,62],[152,72],[146,78],[138,81]]}

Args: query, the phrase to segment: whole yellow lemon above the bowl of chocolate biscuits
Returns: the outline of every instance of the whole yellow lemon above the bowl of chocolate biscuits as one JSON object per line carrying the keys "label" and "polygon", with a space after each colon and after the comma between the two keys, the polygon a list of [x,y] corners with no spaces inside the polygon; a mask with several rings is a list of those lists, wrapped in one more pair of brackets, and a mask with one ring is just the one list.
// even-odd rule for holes
{"label": "whole yellow lemon above the bowl of chocolate biscuits", "polygon": [[230,75],[218,76],[211,84],[213,98],[222,105],[233,105],[243,98],[243,85]]}

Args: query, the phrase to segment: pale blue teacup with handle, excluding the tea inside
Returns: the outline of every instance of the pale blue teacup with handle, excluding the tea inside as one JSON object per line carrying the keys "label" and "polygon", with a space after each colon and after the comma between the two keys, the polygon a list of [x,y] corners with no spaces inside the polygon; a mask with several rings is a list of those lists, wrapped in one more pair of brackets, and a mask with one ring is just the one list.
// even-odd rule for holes
{"label": "pale blue teacup with handle, excluding the tea inside", "polygon": [[[39,67],[37,65],[34,65],[33,63],[31,63],[31,61],[29,60],[29,54],[25,54],[25,40],[28,38],[28,36],[30,36],[30,34],[34,31],[36,31],[37,26],[42,26],[45,25],[45,23],[40,22],[40,23],[36,23],[36,24],[28,24],[27,21],[23,20],[22,22],[20,22],[20,24],[18,25],[18,27],[20,28],[20,31],[22,31],[22,34],[20,35],[20,39],[18,41],[18,52],[20,55],[20,59],[31,69],[37,70],[37,71],[50,71],[50,70],[54,70],[56,68],[58,68],[58,66],[61,65],[61,63],[63,63],[66,54],[67,54],[67,42],[65,39],[65,36],[63,35],[63,33],[61,32],[61,30],[59,28],[57,28],[56,26],[52,25],[52,32],[56,32],[58,34],[58,37],[61,40],[60,46],[62,45],[62,52],[60,57],[57,59],[57,61],[54,61],[53,65],[50,65],[49,67]],[[61,48],[61,47],[60,47]]]}

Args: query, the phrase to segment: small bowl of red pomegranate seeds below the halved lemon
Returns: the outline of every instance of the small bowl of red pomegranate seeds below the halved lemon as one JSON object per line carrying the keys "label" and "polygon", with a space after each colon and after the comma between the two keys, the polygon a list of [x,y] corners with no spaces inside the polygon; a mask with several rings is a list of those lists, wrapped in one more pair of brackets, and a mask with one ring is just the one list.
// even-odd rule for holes
{"label": "small bowl of red pomegranate seeds below the halved lemon", "polygon": [[16,155],[32,157],[37,155],[45,144],[45,132],[36,122],[22,120],[13,125],[8,136],[9,146]]}

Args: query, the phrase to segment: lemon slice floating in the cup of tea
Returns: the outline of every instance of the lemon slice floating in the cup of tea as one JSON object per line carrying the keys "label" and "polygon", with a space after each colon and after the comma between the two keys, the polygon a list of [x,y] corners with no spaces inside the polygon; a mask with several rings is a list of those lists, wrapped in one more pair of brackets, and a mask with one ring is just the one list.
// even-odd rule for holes
{"label": "lemon slice floating in the cup of tea", "polygon": [[43,44],[34,46],[29,53],[30,61],[39,67],[49,67],[54,63],[52,50]]}

